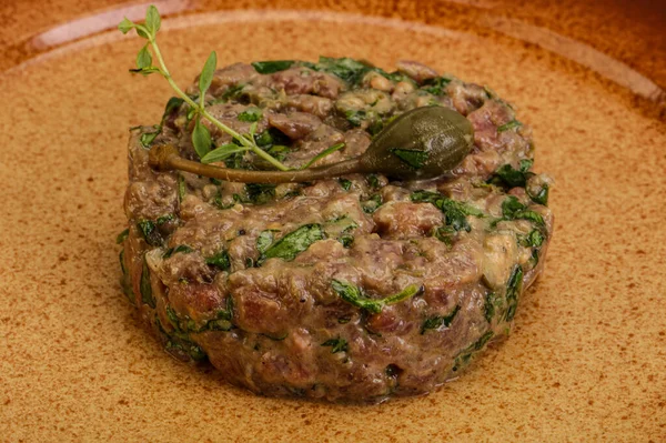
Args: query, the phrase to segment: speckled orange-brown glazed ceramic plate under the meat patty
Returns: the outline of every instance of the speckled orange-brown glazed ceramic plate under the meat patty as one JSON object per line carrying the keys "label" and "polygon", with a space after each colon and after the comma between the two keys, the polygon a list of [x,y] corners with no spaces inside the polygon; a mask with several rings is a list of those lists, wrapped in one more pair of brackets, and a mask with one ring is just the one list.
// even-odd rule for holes
{"label": "speckled orange-brown glazed ceramic plate under the meat patty", "polygon": [[664,8],[625,3],[158,1],[180,82],[211,49],[221,66],[412,58],[534,129],[557,226],[509,340],[430,396],[343,406],[170,359],[121,294],[127,128],[170,93],[127,73],[140,42],[111,28],[145,4],[3,2],[0,440],[666,441]]}

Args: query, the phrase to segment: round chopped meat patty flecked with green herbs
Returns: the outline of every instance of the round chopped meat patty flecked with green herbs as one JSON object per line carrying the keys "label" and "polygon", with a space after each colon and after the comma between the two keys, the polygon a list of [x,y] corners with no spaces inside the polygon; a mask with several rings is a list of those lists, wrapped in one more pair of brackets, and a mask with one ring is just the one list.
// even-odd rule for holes
{"label": "round chopped meat patty flecked with green herbs", "polygon": [[[341,142],[315,165],[357,157],[411,109],[452,108],[475,131],[453,173],[222,182],[148,164],[163,143],[199,159],[182,100],[131,130],[122,285],[172,355],[256,393],[376,402],[432,391],[508,333],[553,232],[531,131],[487,88],[397,68],[238,63],[215,72],[206,109],[240,133],[256,123],[258,144],[299,168]],[[251,152],[214,164],[271,169]]]}

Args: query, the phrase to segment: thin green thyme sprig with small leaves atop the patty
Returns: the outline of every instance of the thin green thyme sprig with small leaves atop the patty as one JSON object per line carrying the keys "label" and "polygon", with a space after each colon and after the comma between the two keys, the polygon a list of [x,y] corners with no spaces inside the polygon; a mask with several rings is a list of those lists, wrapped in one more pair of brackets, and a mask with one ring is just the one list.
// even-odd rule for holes
{"label": "thin green thyme sprig with small leaves atop the patty", "polygon": [[[209,113],[205,109],[204,97],[205,92],[210,88],[213,81],[213,74],[215,72],[215,68],[218,64],[218,54],[215,51],[211,52],[208,60],[205,61],[203,69],[201,70],[201,74],[199,75],[199,103],[196,103],[192,98],[190,98],[182,89],[175,83],[171,72],[167,68],[167,63],[164,62],[164,58],[162,57],[162,52],[160,51],[160,47],[158,46],[157,34],[161,27],[161,18],[158,8],[153,4],[148,7],[145,12],[145,22],[134,23],[129,20],[127,17],[120,22],[118,29],[127,34],[132,29],[137,31],[137,34],[148,42],[139,50],[137,54],[137,69],[130,70],[131,72],[140,73],[143,75],[149,75],[152,73],[161,74],[171,88],[175,91],[175,93],[183,99],[185,103],[192,107],[195,110],[195,120],[194,120],[194,130],[192,131],[192,144],[194,145],[194,150],[199,154],[200,158],[206,157],[209,153],[215,152],[216,150],[211,150],[212,148],[212,138],[209,129],[202,124],[201,119],[204,118],[211,124],[215,125],[223,132],[226,132],[234,140],[240,143],[240,151],[252,151],[258,157],[268,161],[270,164],[275,167],[281,171],[287,171],[289,168],[275,159],[273,155],[262,150],[254,140],[254,131],[256,130],[256,125],[253,124],[250,128],[249,133],[241,134],[234,131],[232,128],[229,128],[226,124],[222,123],[218,119],[215,119],[211,113]],[[152,54],[151,54],[152,49]],[[158,66],[153,64],[153,56],[158,60]],[[224,152],[229,151],[229,145],[220,147]],[[209,157],[210,159],[210,157]]]}

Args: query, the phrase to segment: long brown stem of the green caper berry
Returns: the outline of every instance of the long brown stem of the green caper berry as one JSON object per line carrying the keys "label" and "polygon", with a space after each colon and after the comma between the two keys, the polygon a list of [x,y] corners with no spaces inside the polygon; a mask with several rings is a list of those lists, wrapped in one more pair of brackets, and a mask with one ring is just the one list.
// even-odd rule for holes
{"label": "long brown stem of the green caper berry", "polygon": [[171,144],[153,147],[150,150],[149,164],[160,171],[178,169],[212,179],[240,183],[297,183],[355,172],[367,172],[357,158],[325,167],[290,171],[246,171],[242,169],[218,168],[183,159]]}

